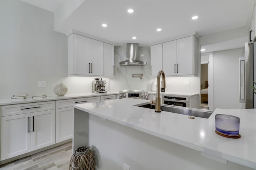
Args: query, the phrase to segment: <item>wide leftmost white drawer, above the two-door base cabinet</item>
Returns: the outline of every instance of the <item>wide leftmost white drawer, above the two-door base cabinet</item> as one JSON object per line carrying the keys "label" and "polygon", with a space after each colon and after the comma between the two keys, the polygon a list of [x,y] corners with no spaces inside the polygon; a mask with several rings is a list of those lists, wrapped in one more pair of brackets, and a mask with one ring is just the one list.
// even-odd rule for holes
{"label": "wide leftmost white drawer, above the two-door base cabinet", "polygon": [[55,101],[6,105],[0,107],[0,116],[18,115],[51,109],[55,109]]}

